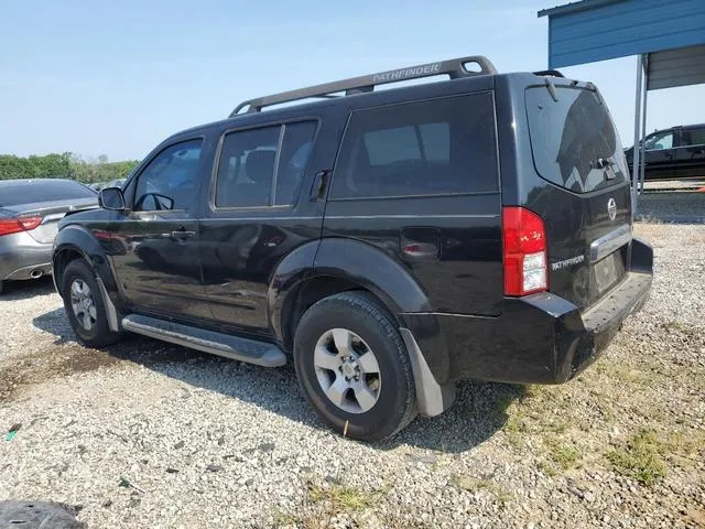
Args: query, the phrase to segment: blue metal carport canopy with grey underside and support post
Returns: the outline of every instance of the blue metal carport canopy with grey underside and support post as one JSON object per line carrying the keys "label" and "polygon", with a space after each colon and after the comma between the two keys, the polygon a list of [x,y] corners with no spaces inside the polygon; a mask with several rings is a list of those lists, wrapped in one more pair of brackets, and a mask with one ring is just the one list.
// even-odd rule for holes
{"label": "blue metal carport canopy with grey underside and support post", "polygon": [[549,17],[550,68],[638,55],[634,145],[646,136],[648,90],[705,83],[705,0],[582,0],[539,17]]}

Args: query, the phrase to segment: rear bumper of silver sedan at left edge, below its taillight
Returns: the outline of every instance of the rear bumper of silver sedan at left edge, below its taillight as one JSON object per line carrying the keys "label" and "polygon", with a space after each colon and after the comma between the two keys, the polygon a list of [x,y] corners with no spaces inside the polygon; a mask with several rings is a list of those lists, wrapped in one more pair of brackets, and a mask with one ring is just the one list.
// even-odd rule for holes
{"label": "rear bumper of silver sedan at left edge, below its taillight", "polygon": [[0,237],[0,281],[31,279],[52,271],[52,244],[37,242],[28,233]]}

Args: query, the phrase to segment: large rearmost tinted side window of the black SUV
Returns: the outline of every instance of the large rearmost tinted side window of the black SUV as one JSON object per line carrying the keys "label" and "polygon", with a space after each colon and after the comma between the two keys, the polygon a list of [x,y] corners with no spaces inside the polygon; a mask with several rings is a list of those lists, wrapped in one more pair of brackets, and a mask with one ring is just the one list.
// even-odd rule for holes
{"label": "large rearmost tinted side window of the black SUV", "polygon": [[350,117],[330,198],[498,190],[490,94],[358,110]]}

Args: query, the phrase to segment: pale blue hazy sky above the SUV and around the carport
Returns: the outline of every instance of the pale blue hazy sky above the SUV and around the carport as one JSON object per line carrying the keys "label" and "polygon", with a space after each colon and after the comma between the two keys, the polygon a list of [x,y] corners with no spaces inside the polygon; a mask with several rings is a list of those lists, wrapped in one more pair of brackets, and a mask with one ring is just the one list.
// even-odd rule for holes
{"label": "pale blue hazy sky above the SUV and around the carport", "polygon": [[[0,0],[0,154],[141,159],[240,101],[356,75],[486,55],[547,66],[561,0]],[[636,57],[561,68],[599,87],[633,142]],[[649,93],[648,130],[705,121],[705,86]]]}

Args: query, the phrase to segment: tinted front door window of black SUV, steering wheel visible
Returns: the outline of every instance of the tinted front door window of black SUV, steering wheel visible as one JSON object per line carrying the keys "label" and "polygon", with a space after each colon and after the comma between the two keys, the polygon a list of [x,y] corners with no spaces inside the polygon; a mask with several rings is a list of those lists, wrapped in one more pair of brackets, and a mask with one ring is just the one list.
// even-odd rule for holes
{"label": "tinted front door window of black SUV, steering wheel visible", "polygon": [[193,204],[202,140],[167,147],[142,171],[137,181],[134,210],[187,209]]}

